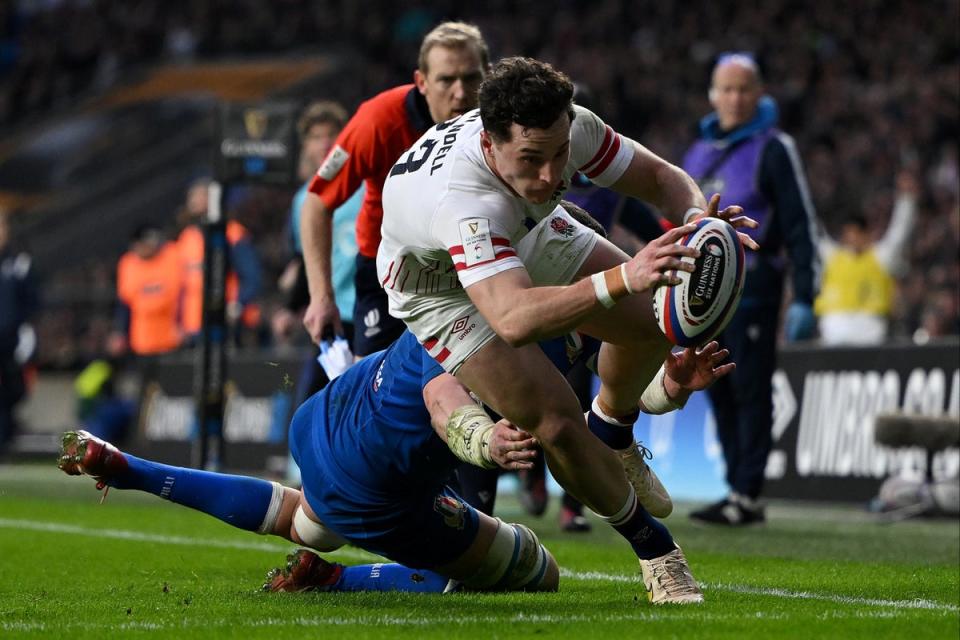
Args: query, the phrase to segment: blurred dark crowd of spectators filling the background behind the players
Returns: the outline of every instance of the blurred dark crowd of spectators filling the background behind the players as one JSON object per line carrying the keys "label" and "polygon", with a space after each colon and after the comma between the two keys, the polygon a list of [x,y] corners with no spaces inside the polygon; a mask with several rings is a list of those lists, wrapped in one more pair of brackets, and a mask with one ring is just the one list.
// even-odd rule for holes
{"label": "blurred dark crowd of spectators filling the background behind the players", "polygon": [[[10,0],[0,2],[0,139],[42,127],[157,65],[209,60],[348,58],[359,72],[334,74],[323,95],[309,97],[352,111],[365,97],[409,82],[423,34],[452,18],[477,24],[494,58],[537,57],[586,84],[603,118],[674,162],[710,111],[706,89],[717,54],[755,52],[826,230],[859,213],[882,234],[896,175],[918,178],[911,266],[898,280],[891,333],[960,333],[957,0]],[[288,256],[292,192],[246,189],[231,199],[230,215],[261,256],[263,322]],[[6,206],[16,209],[16,230],[29,207]],[[167,221],[171,237],[176,209]],[[91,255],[69,269],[38,262],[41,366],[76,367],[103,352],[120,253]],[[269,332],[254,331],[248,342],[266,344]]]}

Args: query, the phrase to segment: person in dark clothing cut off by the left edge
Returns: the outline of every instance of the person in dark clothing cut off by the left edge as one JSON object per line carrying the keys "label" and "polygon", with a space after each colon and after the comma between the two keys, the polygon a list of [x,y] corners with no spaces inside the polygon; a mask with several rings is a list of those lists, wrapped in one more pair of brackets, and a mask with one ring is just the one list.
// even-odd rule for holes
{"label": "person in dark clothing cut off by the left edge", "polygon": [[9,214],[0,209],[0,455],[13,437],[14,409],[27,393],[24,364],[34,340],[28,323],[37,304],[30,256],[11,246]]}

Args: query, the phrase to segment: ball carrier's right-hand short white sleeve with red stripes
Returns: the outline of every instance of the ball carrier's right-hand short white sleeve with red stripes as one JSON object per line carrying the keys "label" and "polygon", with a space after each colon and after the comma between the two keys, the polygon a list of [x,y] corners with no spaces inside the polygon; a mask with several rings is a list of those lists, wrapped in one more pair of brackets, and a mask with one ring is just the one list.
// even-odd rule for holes
{"label": "ball carrier's right-hand short white sleeve with red stripes", "polygon": [[593,183],[609,187],[630,165],[633,144],[592,111],[579,106],[574,109],[577,116],[570,130],[570,162]]}

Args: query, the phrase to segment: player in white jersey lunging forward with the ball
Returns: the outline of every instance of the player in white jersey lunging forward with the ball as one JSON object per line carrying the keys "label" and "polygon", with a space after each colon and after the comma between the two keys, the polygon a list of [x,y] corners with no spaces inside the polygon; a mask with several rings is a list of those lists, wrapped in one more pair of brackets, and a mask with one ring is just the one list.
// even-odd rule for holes
{"label": "player in white jersey lunging forward with the ball", "polygon": [[[498,63],[480,109],[436,125],[391,170],[377,270],[391,314],[444,369],[533,433],[560,484],[630,542],[651,600],[701,602],[682,551],[651,517],[672,505],[632,424],[638,409],[664,413],[686,399],[651,303],[654,287],[679,282],[671,271],[693,270],[681,258],[696,250],[674,244],[693,228],[683,223],[753,222],[734,217],[739,207],[718,211],[716,197],[708,206],[687,174],[573,106],[572,95],[569,78],[545,63]],[[681,226],[627,256],[558,206],[576,171]],[[604,341],[590,429],[536,345],[572,330]]]}

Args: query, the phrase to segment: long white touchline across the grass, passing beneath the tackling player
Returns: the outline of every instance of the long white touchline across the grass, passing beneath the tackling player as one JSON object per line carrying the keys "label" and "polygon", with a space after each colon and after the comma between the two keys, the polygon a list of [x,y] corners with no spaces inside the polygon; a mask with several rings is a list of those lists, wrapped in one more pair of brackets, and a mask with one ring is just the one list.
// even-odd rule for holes
{"label": "long white touchline across the grass, passing beneath the tackling player", "polygon": [[[192,547],[213,547],[219,549],[239,549],[244,551],[268,551],[289,552],[293,543],[274,543],[274,542],[245,542],[241,540],[216,540],[214,538],[191,538],[187,536],[168,536],[156,533],[145,533],[143,531],[133,531],[129,529],[100,529],[88,528],[60,522],[44,522],[39,520],[20,520],[16,518],[0,518],[0,528],[21,529],[30,531],[47,531],[51,533],[67,533],[73,535],[90,536],[94,538],[113,538],[117,540],[133,540],[136,542],[155,542],[158,544],[173,544]],[[364,561],[377,561],[379,556],[360,549],[338,549],[331,554],[346,558],[353,558]],[[640,586],[640,575],[623,575],[616,573],[602,573],[599,571],[571,571],[569,569],[560,569],[560,576],[569,580],[582,580],[587,582],[622,582],[636,583]],[[843,596],[830,593],[814,593],[810,591],[791,591],[789,589],[780,589],[776,587],[754,587],[750,585],[726,584],[722,582],[704,583],[700,586],[707,590],[729,591],[732,593],[744,593],[749,595],[771,596],[776,598],[789,598],[795,600],[816,600],[820,602],[833,602],[846,605],[864,605],[873,607],[890,607],[894,609],[926,609],[931,611],[960,611],[960,607],[952,604],[933,602],[932,600],[923,600],[920,598],[914,600],[883,600],[879,598],[860,598],[854,596]],[[500,618],[502,620],[502,618]],[[325,624],[331,624],[325,622]],[[426,622],[425,622],[426,624]],[[0,625],[0,628],[5,628]]]}

